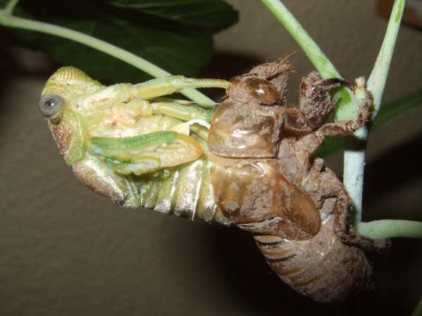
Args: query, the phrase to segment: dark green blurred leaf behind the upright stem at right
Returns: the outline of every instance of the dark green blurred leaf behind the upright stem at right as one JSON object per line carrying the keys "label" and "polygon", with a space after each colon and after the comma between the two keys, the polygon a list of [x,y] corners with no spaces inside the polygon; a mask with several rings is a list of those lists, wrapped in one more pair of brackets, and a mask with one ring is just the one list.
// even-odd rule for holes
{"label": "dark green blurred leaf behind the upright stem at right", "polygon": [[[378,117],[376,118],[375,124],[373,124],[371,131],[380,129],[381,127],[387,125],[397,117],[402,116],[402,114],[407,111],[414,109],[415,107],[422,105],[422,88],[418,89],[414,93],[399,98],[398,100],[387,103],[386,105],[381,106],[380,112],[378,112]],[[327,137],[324,140],[324,145],[318,148],[313,154],[314,157],[324,157],[328,154],[336,152],[343,148],[343,138],[341,137]]]}

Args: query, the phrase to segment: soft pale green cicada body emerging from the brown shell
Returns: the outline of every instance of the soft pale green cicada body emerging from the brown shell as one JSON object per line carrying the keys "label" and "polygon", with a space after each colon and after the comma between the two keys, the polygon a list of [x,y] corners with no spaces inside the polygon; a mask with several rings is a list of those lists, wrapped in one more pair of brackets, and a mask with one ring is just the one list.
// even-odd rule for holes
{"label": "soft pale green cicada body emerging from the brown shell", "polygon": [[213,112],[160,98],[227,84],[172,76],[106,87],[63,67],[47,81],[39,106],[65,161],[95,192],[124,207],[228,224],[210,183],[205,140]]}

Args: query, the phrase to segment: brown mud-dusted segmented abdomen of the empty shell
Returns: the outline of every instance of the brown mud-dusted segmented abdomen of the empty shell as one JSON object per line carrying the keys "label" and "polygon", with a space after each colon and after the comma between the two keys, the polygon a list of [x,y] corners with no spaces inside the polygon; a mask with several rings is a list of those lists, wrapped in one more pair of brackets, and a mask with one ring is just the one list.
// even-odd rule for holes
{"label": "brown mud-dusted segmented abdomen of the empty shell", "polygon": [[361,249],[347,246],[333,232],[333,215],[306,240],[255,235],[255,242],[272,270],[290,287],[314,301],[344,301],[367,289],[371,265]]}

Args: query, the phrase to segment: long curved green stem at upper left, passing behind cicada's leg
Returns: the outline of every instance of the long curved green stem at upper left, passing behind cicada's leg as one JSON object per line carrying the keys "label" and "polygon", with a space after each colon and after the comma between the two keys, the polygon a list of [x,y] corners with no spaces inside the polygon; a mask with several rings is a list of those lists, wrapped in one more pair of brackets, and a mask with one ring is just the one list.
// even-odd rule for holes
{"label": "long curved green stem at upper left, passing behind cicada's leg", "polygon": [[[98,51],[102,51],[103,53],[107,53],[108,55],[112,55],[115,58],[123,60],[124,62],[127,62],[130,65],[133,65],[134,67],[137,67],[140,70],[151,74],[151,76],[153,77],[165,77],[170,75],[169,72],[162,70],[160,67],[157,67],[153,63],[148,62],[148,60],[134,55],[129,51],[125,51],[122,48],[109,44],[106,41],[102,41],[101,39],[96,39],[95,37],[91,37],[87,34],[74,31],[73,29],[68,29],[65,27],[60,27],[58,25],[52,25],[49,23],[38,22],[34,20],[18,18],[8,14],[8,11],[6,10],[13,10],[13,7],[16,3],[17,0],[12,0],[8,3],[4,10],[0,10],[0,25],[4,25],[6,27],[16,27],[20,29],[30,29],[32,31],[56,35],[58,37],[77,41],[84,45],[95,48]],[[187,96],[191,100],[195,101],[196,103],[199,103],[200,105],[203,105],[204,107],[212,108],[215,105],[214,101],[212,101],[207,96],[203,95],[203,93],[196,91],[195,89],[184,88],[180,92],[184,94],[184,96]]]}

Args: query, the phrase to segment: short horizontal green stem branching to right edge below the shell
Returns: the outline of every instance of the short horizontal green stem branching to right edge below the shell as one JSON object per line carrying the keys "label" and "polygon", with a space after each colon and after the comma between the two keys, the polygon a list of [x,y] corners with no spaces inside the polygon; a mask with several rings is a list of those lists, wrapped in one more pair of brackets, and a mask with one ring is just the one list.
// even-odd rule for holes
{"label": "short horizontal green stem branching to right edge below the shell", "polygon": [[391,237],[422,238],[422,222],[414,220],[373,220],[360,223],[359,232],[374,239]]}

